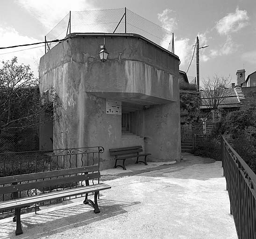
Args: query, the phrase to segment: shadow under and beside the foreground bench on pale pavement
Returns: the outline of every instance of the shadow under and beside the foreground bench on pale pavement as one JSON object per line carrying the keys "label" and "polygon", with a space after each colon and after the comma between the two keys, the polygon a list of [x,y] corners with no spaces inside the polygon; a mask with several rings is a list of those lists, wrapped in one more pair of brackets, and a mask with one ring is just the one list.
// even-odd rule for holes
{"label": "shadow under and beside the foreground bench on pale pavement", "polygon": [[126,213],[126,207],[140,203],[99,199],[100,213],[98,214],[93,212],[92,207],[84,204],[35,214],[21,219],[23,234],[19,236],[15,236],[16,223],[7,222],[0,224],[0,238],[39,239],[47,237]]}

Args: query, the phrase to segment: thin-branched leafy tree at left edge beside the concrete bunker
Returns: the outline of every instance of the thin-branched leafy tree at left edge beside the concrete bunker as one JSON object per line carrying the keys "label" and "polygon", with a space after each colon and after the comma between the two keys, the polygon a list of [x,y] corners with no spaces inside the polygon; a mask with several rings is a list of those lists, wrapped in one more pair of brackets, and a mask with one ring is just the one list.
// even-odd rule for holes
{"label": "thin-branched leafy tree at left edge beside the concrete bunker", "polygon": [[17,57],[2,61],[0,68],[0,133],[21,131],[43,123],[40,115],[58,118],[60,102],[55,89],[39,94],[39,80],[29,65],[18,64]]}

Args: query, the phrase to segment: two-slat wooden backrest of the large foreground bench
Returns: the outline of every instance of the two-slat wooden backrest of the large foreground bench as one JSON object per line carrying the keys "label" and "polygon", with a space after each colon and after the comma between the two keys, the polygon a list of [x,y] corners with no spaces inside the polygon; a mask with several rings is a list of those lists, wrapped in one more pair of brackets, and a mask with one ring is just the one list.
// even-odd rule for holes
{"label": "two-slat wooden backrest of the large foreground bench", "polygon": [[[9,186],[0,187],[0,194],[56,186],[64,183],[74,183],[84,180],[87,181],[94,178],[100,178],[99,165],[0,177],[1,185],[11,183],[13,184]],[[40,181],[29,182],[35,180]]]}

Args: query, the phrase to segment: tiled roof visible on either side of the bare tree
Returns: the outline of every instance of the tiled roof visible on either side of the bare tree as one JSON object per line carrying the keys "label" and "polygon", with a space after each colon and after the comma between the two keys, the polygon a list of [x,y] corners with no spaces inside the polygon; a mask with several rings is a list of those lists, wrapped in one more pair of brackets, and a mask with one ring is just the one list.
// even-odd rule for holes
{"label": "tiled roof visible on either side of the bare tree", "polygon": [[[244,94],[241,90],[241,87],[235,87],[232,89],[225,89],[224,91],[225,98],[221,101],[220,108],[230,108],[230,107],[240,107],[241,100],[244,99]],[[200,91],[201,96],[201,105],[200,109],[207,108],[207,95],[206,91]]]}

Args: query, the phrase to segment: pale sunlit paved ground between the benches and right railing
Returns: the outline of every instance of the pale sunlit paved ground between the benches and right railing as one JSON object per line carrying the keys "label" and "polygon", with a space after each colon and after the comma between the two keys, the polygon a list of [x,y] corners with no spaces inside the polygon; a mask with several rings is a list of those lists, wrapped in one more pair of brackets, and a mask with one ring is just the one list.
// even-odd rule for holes
{"label": "pale sunlit paved ground between the benches and right railing", "polygon": [[0,220],[0,238],[26,239],[237,239],[229,214],[221,162],[184,155],[179,163],[128,165],[102,171],[100,213],[76,202]]}

